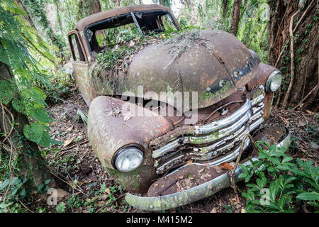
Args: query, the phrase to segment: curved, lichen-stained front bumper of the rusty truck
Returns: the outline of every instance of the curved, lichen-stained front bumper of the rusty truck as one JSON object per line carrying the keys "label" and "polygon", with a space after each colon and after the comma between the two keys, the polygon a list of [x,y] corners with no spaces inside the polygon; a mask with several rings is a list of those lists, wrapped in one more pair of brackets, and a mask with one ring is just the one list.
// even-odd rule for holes
{"label": "curved, lichen-stained front bumper of the rusty truck", "polygon": [[[289,148],[290,143],[291,133],[288,129],[286,129],[286,137],[279,143],[277,143],[277,146]],[[258,159],[257,157],[253,157],[252,160]],[[243,162],[241,162],[241,164],[251,165],[251,162],[250,160],[244,160]],[[242,172],[242,168],[238,166],[235,171],[235,182],[239,182],[241,180],[238,179],[238,176]],[[186,189],[181,192],[153,197],[135,196],[133,194],[127,193],[125,195],[125,199],[128,202],[128,204],[140,210],[159,211],[190,204],[194,201],[198,201],[200,199],[216,194],[216,192],[219,192],[220,190],[225,189],[229,186],[230,178],[228,176],[228,173],[225,172],[223,175],[211,179],[208,182],[199,184],[196,187],[191,187],[190,189]]]}

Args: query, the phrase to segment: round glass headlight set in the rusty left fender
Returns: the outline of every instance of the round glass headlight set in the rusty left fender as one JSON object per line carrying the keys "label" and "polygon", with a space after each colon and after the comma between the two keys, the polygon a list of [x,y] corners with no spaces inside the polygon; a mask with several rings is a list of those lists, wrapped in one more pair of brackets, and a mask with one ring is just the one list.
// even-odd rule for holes
{"label": "round glass headlight set in the rusty left fender", "polygon": [[121,149],[115,158],[115,166],[121,172],[130,172],[140,166],[143,153],[139,148],[126,147]]}

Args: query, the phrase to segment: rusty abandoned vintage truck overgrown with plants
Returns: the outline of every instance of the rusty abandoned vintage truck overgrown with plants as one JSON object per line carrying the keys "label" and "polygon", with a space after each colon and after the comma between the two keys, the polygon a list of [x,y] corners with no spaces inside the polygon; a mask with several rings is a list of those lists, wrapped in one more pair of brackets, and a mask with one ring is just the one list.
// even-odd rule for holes
{"label": "rusty abandoned vintage truck overgrown with plants", "polygon": [[[96,55],[108,48],[101,37],[123,26],[142,35],[164,33],[166,26],[177,33],[173,41],[150,43],[130,56],[126,72],[93,76]],[[91,146],[108,175],[128,191],[128,204],[142,210],[172,209],[229,187],[233,170],[220,164],[233,165],[241,150],[242,165],[250,165],[247,157],[257,160],[247,134],[278,147],[291,143],[287,128],[262,127],[281,72],[230,33],[179,30],[167,7],[139,5],[87,16],[68,33],[74,77],[89,106]],[[160,92],[183,98],[161,99]],[[149,108],[150,102],[158,108]],[[231,179],[239,181],[241,172],[238,166]]]}

